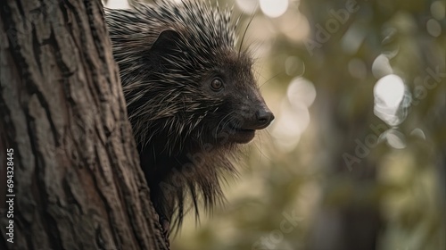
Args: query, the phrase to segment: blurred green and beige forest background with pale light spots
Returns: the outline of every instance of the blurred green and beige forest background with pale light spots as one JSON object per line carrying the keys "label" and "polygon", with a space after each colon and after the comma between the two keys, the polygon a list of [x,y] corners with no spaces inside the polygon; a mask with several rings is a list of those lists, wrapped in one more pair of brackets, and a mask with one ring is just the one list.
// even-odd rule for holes
{"label": "blurred green and beige forest background with pale light spots", "polygon": [[172,249],[446,249],[445,1],[225,4],[276,120]]}

